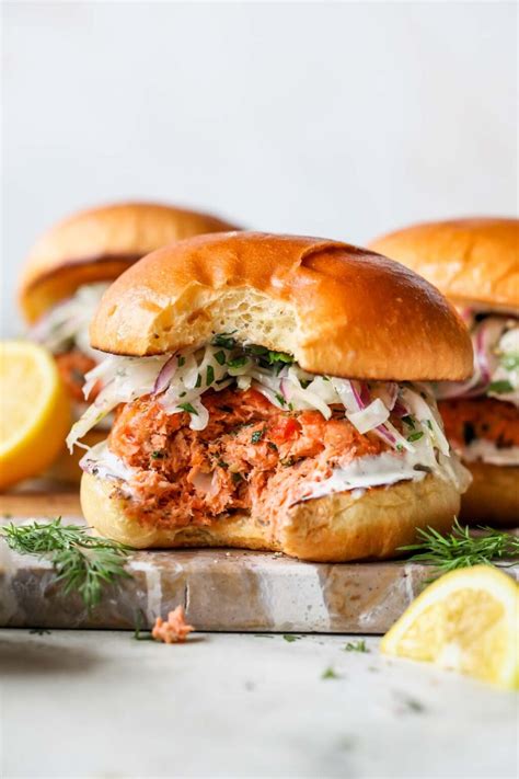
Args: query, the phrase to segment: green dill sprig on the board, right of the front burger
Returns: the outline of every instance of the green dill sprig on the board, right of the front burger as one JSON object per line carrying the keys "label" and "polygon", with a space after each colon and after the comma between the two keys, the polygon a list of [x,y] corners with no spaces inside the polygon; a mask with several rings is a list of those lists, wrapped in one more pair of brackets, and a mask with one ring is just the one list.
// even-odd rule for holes
{"label": "green dill sprig on the board, right of the front burger", "polygon": [[439,574],[448,573],[459,568],[486,564],[493,565],[499,560],[517,560],[519,558],[519,538],[492,527],[475,528],[482,535],[472,535],[469,527],[462,527],[454,519],[452,531],[442,536],[429,527],[418,529],[420,543],[400,547],[401,552],[415,552],[411,562],[434,565]]}

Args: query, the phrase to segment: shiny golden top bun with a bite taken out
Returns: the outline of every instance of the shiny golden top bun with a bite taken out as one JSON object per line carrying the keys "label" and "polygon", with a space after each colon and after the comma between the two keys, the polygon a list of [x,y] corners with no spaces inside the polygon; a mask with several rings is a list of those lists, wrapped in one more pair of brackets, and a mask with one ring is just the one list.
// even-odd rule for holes
{"label": "shiny golden top bun with a bite taken out", "polygon": [[453,308],[387,257],[319,238],[230,232],[180,241],[106,290],[92,346],[153,355],[232,332],[307,370],[350,378],[460,380],[472,347]]}

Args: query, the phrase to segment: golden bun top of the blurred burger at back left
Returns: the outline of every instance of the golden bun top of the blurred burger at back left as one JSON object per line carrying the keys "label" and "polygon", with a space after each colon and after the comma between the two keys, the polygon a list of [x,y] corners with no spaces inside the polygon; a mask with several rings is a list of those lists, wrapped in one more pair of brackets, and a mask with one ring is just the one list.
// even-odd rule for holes
{"label": "golden bun top of the blurred burger at back left", "polygon": [[20,284],[22,310],[32,322],[81,284],[113,280],[159,247],[233,229],[207,214],[153,203],[79,211],[50,228],[31,250]]}

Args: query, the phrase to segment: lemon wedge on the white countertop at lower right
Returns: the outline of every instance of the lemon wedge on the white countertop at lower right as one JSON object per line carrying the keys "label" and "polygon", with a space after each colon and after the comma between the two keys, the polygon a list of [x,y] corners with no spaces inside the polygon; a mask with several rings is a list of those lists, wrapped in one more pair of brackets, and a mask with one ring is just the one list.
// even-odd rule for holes
{"label": "lemon wedge on the white countertop at lower right", "polygon": [[492,565],[451,571],[411,604],[381,651],[517,687],[519,588]]}

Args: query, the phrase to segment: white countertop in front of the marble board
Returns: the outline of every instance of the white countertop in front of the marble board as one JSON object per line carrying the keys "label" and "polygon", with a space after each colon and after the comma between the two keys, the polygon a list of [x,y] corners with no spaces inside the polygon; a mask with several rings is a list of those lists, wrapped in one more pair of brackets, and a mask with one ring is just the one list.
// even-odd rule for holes
{"label": "white countertop in front of the marble board", "polygon": [[515,694],[357,639],[0,630],[0,776],[517,776]]}

